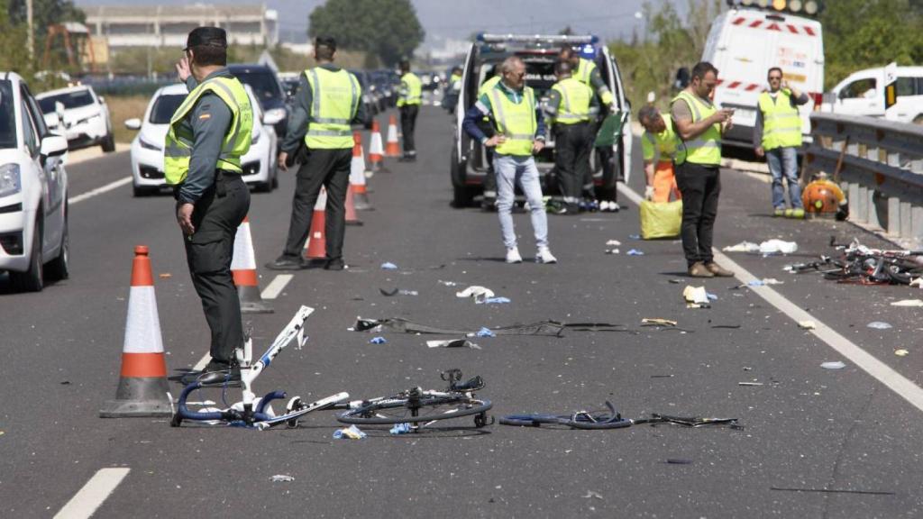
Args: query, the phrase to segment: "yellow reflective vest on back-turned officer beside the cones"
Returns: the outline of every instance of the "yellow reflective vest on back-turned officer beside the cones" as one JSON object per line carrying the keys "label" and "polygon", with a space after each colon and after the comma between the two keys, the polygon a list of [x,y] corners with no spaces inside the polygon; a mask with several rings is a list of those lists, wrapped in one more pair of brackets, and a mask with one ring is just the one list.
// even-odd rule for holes
{"label": "yellow reflective vest on back-turned officer beside the cones", "polygon": [[350,122],[359,109],[362,91],[355,76],[344,69],[336,72],[316,66],[305,71],[311,86],[311,116],[305,144],[315,150],[352,148]]}

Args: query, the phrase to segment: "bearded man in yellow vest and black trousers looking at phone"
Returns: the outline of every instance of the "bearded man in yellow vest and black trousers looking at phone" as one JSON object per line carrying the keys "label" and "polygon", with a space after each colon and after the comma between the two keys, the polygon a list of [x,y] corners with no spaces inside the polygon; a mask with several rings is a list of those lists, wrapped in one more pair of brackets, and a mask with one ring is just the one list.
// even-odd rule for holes
{"label": "bearded man in yellow vest and black trousers looking at phone", "polygon": [[709,101],[717,81],[718,69],[711,63],[696,64],[689,86],[673,98],[670,107],[681,140],[675,159],[677,186],[683,195],[680,235],[692,277],[734,275],[715,263],[712,253],[721,193],[721,135],[734,115],[733,110],[718,110]]}

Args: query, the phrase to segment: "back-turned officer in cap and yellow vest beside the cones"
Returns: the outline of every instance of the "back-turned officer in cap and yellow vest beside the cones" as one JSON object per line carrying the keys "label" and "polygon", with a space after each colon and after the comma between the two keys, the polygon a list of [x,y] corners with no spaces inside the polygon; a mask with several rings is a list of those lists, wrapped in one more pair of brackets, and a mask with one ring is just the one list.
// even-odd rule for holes
{"label": "back-turned officer in cap and yellow vest beside the cones", "polygon": [[343,233],[346,226],[346,190],[349,187],[350,163],[353,160],[352,125],[362,124],[365,108],[359,80],[347,70],[333,65],[337,43],[333,38],[318,36],[314,59],[318,66],[302,74],[295,100],[294,114],[279,153],[279,167],[288,171],[296,151],[306,147],[306,157],[295,175],[292,220],[282,256],[266,264],[277,271],[306,268],[302,259],[307,235],[311,230],[314,204],[321,187],[327,187],[327,210],[324,232],[327,259],[324,268],[342,271]]}

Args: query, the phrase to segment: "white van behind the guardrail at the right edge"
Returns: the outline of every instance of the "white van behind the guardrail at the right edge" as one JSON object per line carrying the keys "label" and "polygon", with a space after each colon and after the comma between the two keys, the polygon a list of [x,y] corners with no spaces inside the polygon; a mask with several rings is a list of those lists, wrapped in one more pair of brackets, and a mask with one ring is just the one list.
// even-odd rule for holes
{"label": "white van behind the guardrail at the right edge", "polygon": [[[897,99],[884,107],[885,75],[897,78]],[[824,97],[823,111],[884,117],[923,125],[923,66],[880,66],[850,74]]]}

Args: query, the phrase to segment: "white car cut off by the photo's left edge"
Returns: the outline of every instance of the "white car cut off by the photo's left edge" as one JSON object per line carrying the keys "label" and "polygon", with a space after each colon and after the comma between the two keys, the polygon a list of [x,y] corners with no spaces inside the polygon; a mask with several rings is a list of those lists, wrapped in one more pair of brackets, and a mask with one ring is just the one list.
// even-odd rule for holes
{"label": "white car cut off by the photo's left edge", "polygon": [[0,271],[17,290],[68,275],[66,153],[25,81],[0,73]]}

